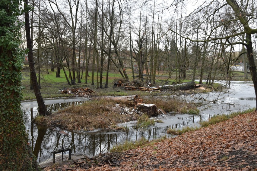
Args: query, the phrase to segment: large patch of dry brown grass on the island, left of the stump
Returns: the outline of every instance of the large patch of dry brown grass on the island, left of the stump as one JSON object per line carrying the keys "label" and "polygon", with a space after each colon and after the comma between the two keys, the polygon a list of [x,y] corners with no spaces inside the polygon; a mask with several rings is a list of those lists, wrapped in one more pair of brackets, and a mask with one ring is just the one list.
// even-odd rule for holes
{"label": "large patch of dry brown grass on the island, left of the stump", "polygon": [[111,125],[135,120],[133,115],[120,115],[120,108],[113,100],[94,100],[82,105],[72,105],[47,116],[45,125],[58,126],[67,130],[94,130],[109,128]]}

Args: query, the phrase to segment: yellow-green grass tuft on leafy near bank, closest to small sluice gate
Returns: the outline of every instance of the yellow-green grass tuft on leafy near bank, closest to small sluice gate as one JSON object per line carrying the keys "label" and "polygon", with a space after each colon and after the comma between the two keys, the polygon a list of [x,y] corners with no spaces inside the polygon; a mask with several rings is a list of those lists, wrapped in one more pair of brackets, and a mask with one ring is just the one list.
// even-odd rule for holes
{"label": "yellow-green grass tuft on leafy near bank, closest to small sluice gate", "polygon": [[122,152],[122,151],[127,151],[127,150],[132,150],[138,147],[142,147],[148,143],[148,140],[142,137],[141,139],[132,142],[132,141],[125,141],[122,144],[114,146],[110,152]]}

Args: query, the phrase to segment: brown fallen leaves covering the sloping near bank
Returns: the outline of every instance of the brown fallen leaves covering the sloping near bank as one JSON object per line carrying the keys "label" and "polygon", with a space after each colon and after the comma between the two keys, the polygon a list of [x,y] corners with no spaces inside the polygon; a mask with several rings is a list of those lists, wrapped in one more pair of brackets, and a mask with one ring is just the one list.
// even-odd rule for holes
{"label": "brown fallen leaves covering the sloping near bank", "polygon": [[[98,158],[71,162],[70,165],[78,171],[257,170],[256,133],[257,112],[252,112],[142,148],[121,154],[100,154]],[[76,162],[83,162],[84,167]],[[44,170],[67,168],[59,165]]]}

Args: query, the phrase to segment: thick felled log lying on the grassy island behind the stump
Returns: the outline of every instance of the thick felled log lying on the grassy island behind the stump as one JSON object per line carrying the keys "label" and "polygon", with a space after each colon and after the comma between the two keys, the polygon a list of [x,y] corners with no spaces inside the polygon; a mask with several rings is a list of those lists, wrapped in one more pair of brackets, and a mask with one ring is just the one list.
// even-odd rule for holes
{"label": "thick felled log lying on the grassy island behind the stump", "polygon": [[143,102],[143,99],[139,95],[133,95],[133,96],[104,96],[100,97],[98,99],[109,99],[114,100],[117,103],[123,103],[128,106],[137,106],[140,105]]}

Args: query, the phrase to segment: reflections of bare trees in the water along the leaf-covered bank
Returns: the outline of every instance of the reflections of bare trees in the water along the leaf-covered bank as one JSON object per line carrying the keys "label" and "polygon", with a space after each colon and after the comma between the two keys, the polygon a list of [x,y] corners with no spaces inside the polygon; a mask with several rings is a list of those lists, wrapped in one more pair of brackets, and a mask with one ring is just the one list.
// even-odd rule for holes
{"label": "reflections of bare trees in the water along the leaf-covered bank", "polygon": [[[109,151],[114,145],[125,142],[125,140],[135,141],[141,137],[152,140],[159,138],[167,133],[167,130],[171,128],[180,128],[187,125],[191,125],[197,121],[200,121],[201,115],[184,117],[183,122],[173,124],[167,127],[154,127],[150,129],[133,129],[130,128],[127,132],[105,132],[105,133],[74,133],[69,132],[68,135],[60,134],[54,130],[46,130],[45,136],[41,143],[41,149],[39,150],[39,161],[46,160],[52,156],[52,151],[60,149],[62,147],[62,139],[64,140],[64,148],[72,148],[72,153],[86,154],[87,156],[94,156],[99,153]],[[39,134],[42,133],[38,129]],[[34,134],[36,137],[36,135]],[[41,135],[37,136],[37,141],[41,142]],[[37,144],[37,143],[36,143]],[[36,153],[36,145],[34,147],[34,153]]]}

